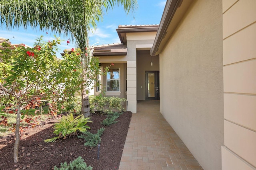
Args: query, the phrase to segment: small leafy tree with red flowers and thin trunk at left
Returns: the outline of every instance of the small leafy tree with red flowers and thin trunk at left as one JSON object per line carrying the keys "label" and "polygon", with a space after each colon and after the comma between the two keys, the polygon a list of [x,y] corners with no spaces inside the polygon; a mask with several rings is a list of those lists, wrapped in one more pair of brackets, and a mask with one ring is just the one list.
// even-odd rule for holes
{"label": "small leafy tree with red flowers and thin trunk at left", "polygon": [[65,98],[80,88],[80,57],[70,53],[58,60],[55,55],[58,44],[59,39],[44,42],[42,37],[34,48],[18,45],[12,49],[8,40],[0,44],[0,100],[3,105],[13,104],[17,113],[15,163],[18,162],[21,118],[38,106],[36,102]]}

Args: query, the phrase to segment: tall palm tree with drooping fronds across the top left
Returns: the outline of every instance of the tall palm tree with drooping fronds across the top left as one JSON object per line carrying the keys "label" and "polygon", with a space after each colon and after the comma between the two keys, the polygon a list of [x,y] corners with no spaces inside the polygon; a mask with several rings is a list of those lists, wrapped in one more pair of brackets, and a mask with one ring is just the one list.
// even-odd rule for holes
{"label": "tall palm tree with drooping fronds across the top left", "polygon": [[[0,23],[6,24],[7,29],[30,25],[33,28],[50,29],[53,32],[70,33],[70,41],[76,42],[76,46],[82,50],[81,72],[83,82],[82,113],[90,115],[88,103],[88,72],[90,60],[93,58],[89,45],[89,31],[96,28],[97,22],[103,19],[104,12],[115,6],[124,6],[124,11],[129,14],[137,8],[137,0],[1,0]],[[86,55],[87,54],[87,55]]]}

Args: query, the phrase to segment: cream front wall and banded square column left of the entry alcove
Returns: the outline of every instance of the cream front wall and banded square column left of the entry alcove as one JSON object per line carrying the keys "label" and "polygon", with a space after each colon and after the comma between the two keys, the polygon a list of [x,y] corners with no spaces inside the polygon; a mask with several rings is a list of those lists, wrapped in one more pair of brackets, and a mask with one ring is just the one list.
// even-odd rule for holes
{"label": "cream front wall and banded square column left of the entry alcove", "polygon": [[[96,56],[99,57],[102,67],[109,66],[114,63],[113,67],[121,69],[121,94],[120,97],[127,99],[127,110],[132,113],[137,112],[137,56],[136,51],[142,49],[150,49],[156,37],[155,32],[140,32],[140,33],[127,33],[127,55],[113,55],[113,56]],[[145,73],[144,73],[145,74]],[[123,75],[123,76],[122,76]],[[127,80],[127,91],[126,91]],[[106,86],[106,77],[102,78],[103,86]],[[97,93],[95,93],[97,94]],[[106,93],[112,96],[113,93]],[[117,95],[118,93],[116,93]]]}

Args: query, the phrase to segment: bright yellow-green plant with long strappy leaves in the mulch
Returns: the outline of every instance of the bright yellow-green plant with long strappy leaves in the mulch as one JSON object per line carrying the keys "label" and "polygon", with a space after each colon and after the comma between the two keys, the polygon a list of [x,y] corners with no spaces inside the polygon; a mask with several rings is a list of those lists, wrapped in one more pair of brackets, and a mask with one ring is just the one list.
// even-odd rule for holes
{"label": "bright yellow-green plant with long strappy leaves in the mulch", "polygon": [[59,122],[54,124],[55,131],[53,132],[57,137],[53,137],[51,139],[46,139],[44,142],[54,142],[56,139],[66,139],[67,136],[77,135],[78,132],[86,132],[87,129],[90,129],[89,126],[86,125],[89,121],[90,117],[85,117],[83,115],[79,115],[74,118],[73,114],[62,116]]}

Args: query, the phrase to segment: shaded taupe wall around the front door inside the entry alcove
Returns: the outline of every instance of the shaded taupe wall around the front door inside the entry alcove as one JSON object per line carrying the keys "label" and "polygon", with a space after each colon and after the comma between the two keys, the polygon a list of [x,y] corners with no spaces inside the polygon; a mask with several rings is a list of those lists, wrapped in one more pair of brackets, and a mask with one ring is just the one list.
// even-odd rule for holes
{"label": "shaded taupe wall around the front door inside the entry alcove", "polygon": [[137,51],[137,100],[146,100],[146,71],[159,71],[159,56],[151,57],[149,50]]}

